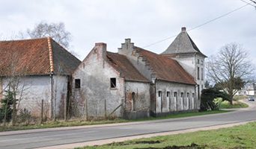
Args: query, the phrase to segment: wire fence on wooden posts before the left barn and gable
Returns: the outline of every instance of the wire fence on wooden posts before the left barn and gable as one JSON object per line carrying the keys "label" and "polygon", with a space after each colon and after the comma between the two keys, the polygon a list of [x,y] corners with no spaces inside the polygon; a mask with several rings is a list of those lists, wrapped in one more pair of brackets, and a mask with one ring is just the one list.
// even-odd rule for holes
{"label": "wire fence on wooden posts before the left barn and gable", "polygon": [[[88,121],[114,118],[115,112],[122,109],[122,104],[110,107],[106,100],[82,104],[74,101],[70,105],[58,103],[51,107],[47,101],[23,101],[16,103],[0,103],[0,127],[43,124],[46,121]],[[89,115],[88,115],[89,113]]]}

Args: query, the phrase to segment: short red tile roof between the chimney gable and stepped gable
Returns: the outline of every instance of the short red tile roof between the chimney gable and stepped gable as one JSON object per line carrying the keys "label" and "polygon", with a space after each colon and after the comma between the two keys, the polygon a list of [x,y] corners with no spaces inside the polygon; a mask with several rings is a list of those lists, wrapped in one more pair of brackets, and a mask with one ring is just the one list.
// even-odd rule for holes
{"label": "short red tile roof between the chimney gable and stepped gable", "polygon": [[126,80],[142,80],[149,82],[144,75],[138,72],[126,56],[107,51],[107,59],[116,70],[121,72],[121,76],[125,77]]}

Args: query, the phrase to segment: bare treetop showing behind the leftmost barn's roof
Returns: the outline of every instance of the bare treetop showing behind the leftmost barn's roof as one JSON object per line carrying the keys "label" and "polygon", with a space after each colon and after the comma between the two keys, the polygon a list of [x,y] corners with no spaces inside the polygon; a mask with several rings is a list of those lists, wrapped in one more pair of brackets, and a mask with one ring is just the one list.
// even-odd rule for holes
{"label": "bare treetop showing behind the leftmost barn's roof", "polygon": [[39,37],[52,37],[64,48],[70,48],[72,36],[69,31],[66,31],[64,22],[47,23],[45,21],[34,25],[34,29],[27,29],[25,32],[20,31],[18,37],[20,39],[39,38]]}

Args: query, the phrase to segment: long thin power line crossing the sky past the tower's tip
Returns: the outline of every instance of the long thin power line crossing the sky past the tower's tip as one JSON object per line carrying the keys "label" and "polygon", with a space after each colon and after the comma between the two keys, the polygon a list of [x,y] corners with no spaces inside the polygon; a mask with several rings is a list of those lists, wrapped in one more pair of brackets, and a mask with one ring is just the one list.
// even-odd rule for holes
{"label": "long thin power line crossing the sky past the tower's tip", "polygon": [[[219,17],[217,17],[217,18],[215,18],[215,19],[211,19],[211,20],[208,21],[208,22],[204,22],[203,24],[198,25],[198,26],[196,26],[196,27],[194,27],[194,28],[191,28],[191,29],[189,29],[189,30],[187,30],[187,31],[192,31],[192,30],[194,30],[195,28],[200,28],[200,27],[203,26],[203,25],[207,25],[207,24],[210,23],[210,22],[216,21],[217,19],[220,19],[220,18],[222,18],[222,17],[224,17],[224,16],[227,16],[227,15],[229,15],[229,14],[231,14],[231,13],[234,13],[235,11],[240,10],[240,9],[242,9],[243,7],[246,7],[246,6],[248,6],[248,5],[249,5],[249,4],[243,5],[242,7],[238,7],[237,9],[232,10],[232,11],[230,11],[229,13],[225,13],[225,14],[223,14],[222,16],[219,16]],[[153,43],[151,43],[150,45],[146,45],[146,46],[144,46],[144,47],[142,47],[142,48],[147,48],[147,47],[149,47],[149,46],[151,46],[151,45],[156,45],[156,44],[159,43],[159,42],[163,42],[163,41],[165,41],[165,40],[167,40],[167,39],[171,39],[171,38],[173,38],[173,37],[177,37],[177,35],[178,35],[178,34],[176,34],[176,35],[174,35],[174,36],[171,36],[171,37],[168,37],[168,38],[165,38],[165,39],[162,39],[162,40],[159,40],[158,42],[153,42]]]}

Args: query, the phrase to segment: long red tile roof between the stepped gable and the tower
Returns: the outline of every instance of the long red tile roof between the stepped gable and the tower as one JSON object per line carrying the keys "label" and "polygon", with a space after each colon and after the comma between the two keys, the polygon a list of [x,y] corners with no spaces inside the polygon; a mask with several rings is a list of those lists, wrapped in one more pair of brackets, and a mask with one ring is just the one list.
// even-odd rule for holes
{"label": "long red tile roof between the stepped gable and the tower", "polygon": [[138,47],[135,47],[135,50],[145,58],[146,63],[156,73],[156,78],[177,83],[196,84],[194,78],[176,60]]}

